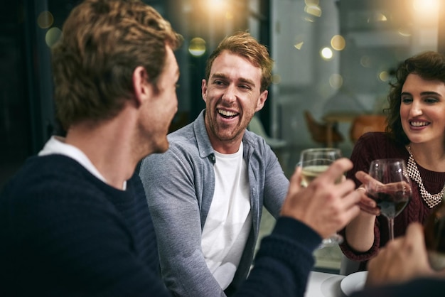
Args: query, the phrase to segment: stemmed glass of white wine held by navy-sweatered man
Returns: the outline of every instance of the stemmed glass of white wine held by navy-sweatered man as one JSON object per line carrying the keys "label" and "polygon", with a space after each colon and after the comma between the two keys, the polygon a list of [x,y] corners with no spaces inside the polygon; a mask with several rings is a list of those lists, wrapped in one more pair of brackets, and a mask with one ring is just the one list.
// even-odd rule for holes
{"label": "stemmed glass of white wine held by navy-sweatered man", "polygon": [[[302,177],[301,185],[309,185],[312,180],[326,171],[331,163],[341,158],[341,156],[339,148],[308,148],[301,151],[299,161]],[[332,234],[331,237],[323,239],[319,248],[341,244],[342,242],[343,237],[340,234]]]}

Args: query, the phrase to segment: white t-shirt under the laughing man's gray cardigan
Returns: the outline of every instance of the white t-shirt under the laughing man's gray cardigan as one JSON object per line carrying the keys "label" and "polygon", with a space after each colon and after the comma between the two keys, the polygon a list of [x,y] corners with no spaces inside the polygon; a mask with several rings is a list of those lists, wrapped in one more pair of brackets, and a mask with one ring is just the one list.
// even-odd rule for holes
{"label": "white t-shirt under the laughing man's gray cardigan", "polygon": [[232,282],[252,227],[250,187],[242,144],[237,153],[215,152],[215,194],[205,220],[201,247],[221,288]]}

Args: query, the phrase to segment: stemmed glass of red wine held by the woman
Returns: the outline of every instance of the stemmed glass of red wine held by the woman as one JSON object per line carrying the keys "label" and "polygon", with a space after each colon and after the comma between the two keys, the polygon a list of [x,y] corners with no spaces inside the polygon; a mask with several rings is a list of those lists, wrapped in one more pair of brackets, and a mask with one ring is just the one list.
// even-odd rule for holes
{"label": "stemmed glass of red wine held by the woman", "polygon": [[412,197],[411,180],[402,159],[387,158],[371,162],[369,174],[374,180],[366,185],[366,195],[377,202],[387,217],[390,240],[394,239],[394,218],[404,210]]}

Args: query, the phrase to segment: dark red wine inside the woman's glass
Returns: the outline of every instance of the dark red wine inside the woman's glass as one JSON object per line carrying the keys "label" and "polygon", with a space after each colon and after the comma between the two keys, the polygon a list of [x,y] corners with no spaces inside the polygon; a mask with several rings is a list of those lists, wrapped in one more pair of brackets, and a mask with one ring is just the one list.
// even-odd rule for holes
{"label": "dark red wine inside the woman's glass", "polygon": [[380,213],[390,218],[397,217],[411,199],[411,195],[404,191],[367,193],[367,195],[377,202]]}

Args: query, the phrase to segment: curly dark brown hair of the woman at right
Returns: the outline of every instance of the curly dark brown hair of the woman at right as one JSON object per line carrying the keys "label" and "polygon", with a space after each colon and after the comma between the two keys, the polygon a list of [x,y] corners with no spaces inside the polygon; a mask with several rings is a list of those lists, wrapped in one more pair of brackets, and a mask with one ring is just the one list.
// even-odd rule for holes
{"label": "curly dark brown hair of the woman at right", "polygon": [[392,139],[402,144],[409,144],[410,142],[407,134],[402,129],[400,104],[402,101],[402,87],[411,73],[419,75],[424,80],[445,82],[445,55],[434,51],[420,53],[404,60],[395,71],[395,80],[390,82],[391,90],[387,97],[390,107],[385,109],[387,114],[386,131]]}

